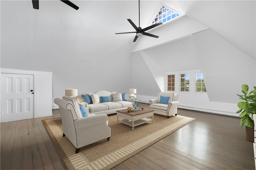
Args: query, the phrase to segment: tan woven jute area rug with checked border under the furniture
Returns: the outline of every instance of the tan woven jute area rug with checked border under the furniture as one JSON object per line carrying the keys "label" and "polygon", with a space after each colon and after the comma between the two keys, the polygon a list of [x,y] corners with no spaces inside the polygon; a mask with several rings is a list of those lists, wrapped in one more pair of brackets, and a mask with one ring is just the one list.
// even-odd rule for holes
{"label": "tan woven jute area rug with checked border under the furniture", "polygon": [[110,140],[104,139],[82,147],[78,154],[68,138],[62,137],[61,117],[42,122],[67,169],[108,170],[193,120],[194,118],[180,115],[167,119],[166,116],[155,114],[154,123],[150,121],[136,126],[132,131],[132,127],[117,123],[116,114],[108,115]]}

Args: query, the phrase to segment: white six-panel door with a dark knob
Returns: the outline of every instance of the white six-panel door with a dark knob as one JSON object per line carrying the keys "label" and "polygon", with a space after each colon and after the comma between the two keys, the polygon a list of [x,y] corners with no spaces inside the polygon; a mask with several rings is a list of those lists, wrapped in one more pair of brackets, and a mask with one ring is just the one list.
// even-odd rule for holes
{"label": "white six-panel door with a dark knob", "polygon": [[2,122],[34,118],[34,75],[2,73]]}

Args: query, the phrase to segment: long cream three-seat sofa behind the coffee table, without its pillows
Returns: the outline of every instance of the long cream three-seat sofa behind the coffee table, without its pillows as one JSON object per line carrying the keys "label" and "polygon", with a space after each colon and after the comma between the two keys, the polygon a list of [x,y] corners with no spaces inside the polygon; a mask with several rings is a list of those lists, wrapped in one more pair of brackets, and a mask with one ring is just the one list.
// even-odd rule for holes
{"label": "long cream three-seat sofa behind the coffee table, without its pillows", "polygon": [[[96,94],[99,98],[99,103],[96,104],[88,104],[87,102],[83,101],[82,95],[88,94],[89,96],[92,96],[92,94]],[[120,109],[127,109],[128,107],[132,107],[132,103],[135,101],[134,98],[128,98],[124,100],[119,100],[117,102],[113,102],[112,94],[118,94],[117,92],[108,92],[108,91],[98,91],[94,93],[83,93],[76,96],[78,102],[82,104],[86,110],[91,114],[113,114],[116,113],[116,110]],[[101,97],[109,97],[110,102],[103,102]]]}

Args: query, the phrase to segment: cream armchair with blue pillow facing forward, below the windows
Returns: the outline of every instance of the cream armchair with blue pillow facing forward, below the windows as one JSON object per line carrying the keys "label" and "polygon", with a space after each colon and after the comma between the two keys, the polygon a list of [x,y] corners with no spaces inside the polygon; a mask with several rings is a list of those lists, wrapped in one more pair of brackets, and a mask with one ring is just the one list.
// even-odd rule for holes
{"label": "cream armchair with blue pillow facing forward, below the windows", "polygon": [[149,100],[148,108],[154,110],[156,114],[166,115],[169,118],[171,115],[177,115],[178,97],[179,94],[174,92],[159,92],[157,99]]}

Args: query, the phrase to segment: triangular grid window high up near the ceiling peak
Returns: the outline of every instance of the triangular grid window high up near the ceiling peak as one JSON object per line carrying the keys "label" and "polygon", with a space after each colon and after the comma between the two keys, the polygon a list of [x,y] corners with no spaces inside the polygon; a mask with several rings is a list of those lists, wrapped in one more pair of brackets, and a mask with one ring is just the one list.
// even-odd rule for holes
{"label": "triangular grid window high up near the ceiling peak", "polygon": [[152,21],[151,25],[158,23],[158,22],[166,23],[166,22],[174,20],[180,16],[181,15],[178,14],[177,12],[174,12],[174,11],[162,6],[162,8],[160,8],[159,12],[156,14],[156,17]]}

